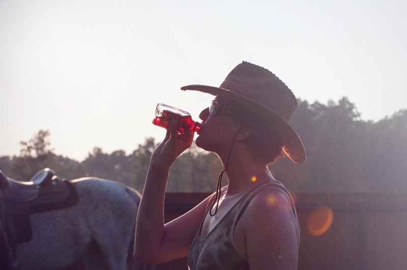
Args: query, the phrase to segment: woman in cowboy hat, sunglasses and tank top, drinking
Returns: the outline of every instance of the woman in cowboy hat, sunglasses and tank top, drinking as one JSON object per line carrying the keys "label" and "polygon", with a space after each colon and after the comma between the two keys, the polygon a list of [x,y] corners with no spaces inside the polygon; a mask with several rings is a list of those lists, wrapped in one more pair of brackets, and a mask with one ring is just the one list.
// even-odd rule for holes
{"label": "woman in cowboy hat, sunglasses and tank top, drinking", "polygon": [[[134,257],[163,263],[188,256],[190,269],[297,269],[299,225],[294,202],[268,165],[282,155],[305,160],[301,139],[287,123],[297,107],[270,71],[243,62],[220,87],[188,85],[215,95],[202,110],[195,143],[223,165],[216,193],[164,224],[169,167],[193,140],[172,121],[155,149],[137,214]],[[223,173],[228,185],[221,189]]]}

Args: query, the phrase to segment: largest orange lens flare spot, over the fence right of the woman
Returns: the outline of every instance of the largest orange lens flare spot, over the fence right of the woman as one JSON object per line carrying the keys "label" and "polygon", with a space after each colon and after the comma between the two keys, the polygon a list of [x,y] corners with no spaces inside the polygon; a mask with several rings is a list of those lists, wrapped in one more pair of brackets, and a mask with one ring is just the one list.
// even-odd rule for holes
{"label": "largest orange lens flare spot, over the fence right of the woman", "polygon": [[308,217],[308,232],[313,236],[321,236],[329,230],[333,220],[334,213],[330,207],[315,208]]}

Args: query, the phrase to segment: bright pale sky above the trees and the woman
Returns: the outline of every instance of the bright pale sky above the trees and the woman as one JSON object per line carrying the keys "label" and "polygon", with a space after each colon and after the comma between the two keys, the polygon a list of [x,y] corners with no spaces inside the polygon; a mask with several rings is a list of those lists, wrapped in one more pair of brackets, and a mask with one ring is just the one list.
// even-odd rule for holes
{"label": "bright pale sky above the trees and the woman", "polygon": [[0,156],[49,130],[57,155],[131,154],[157,103],[197,120],[242,61],[364,121],[407,109],[406,1],[0,0]]}

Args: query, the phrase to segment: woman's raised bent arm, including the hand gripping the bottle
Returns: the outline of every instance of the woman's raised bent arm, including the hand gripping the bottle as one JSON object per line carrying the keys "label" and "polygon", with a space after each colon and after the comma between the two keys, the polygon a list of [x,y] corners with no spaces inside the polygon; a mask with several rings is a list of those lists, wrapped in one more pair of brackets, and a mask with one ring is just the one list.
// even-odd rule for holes
{"label": "woman's raised bent arm, including the hand gripping the bottle", "polygon": [[187,214],[164,225],[164,196],[168,171],[193,140],[193,132],[177,133],[177,122],[154,150],[136,219],[134,258],[144,263],[162,263],[188,254],[189,246],[205,214],[206,201]]}

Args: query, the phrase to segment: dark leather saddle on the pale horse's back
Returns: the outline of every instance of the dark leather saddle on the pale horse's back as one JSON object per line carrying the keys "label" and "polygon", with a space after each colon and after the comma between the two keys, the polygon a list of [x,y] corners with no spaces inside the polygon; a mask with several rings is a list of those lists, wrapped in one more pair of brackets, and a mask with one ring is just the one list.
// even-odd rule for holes
{"label": "dark leather saddle on the pale horse's back", "polygon": [[6,230],[13,246],[33,237],[30,214],[69,207],[78,201],[74,186],[48,168],[37,172],[30,182],[5,178],[7,183],[0,188],[4,191]]}

